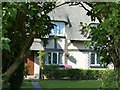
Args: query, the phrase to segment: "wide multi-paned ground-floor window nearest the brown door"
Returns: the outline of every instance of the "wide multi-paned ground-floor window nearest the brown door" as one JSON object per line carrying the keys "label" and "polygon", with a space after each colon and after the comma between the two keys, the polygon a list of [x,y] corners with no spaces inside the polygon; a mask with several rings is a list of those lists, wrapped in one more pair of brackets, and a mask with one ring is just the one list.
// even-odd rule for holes
{"label": "wide multi-paned ground-floor window nearest the brown door", "polygon": [[62,52],[48,52],[46,54],[46,64],[63,64]]}

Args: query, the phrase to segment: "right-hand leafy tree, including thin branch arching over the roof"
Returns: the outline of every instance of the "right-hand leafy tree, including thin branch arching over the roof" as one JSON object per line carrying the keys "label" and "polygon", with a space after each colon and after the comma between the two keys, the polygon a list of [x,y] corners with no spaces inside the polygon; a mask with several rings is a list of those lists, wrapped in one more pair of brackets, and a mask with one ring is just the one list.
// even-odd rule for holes
{"label": "right-hand leafy tree, including thin branch arching over the roof", "polygon": [[[84,7],[81,2],[73,3],[87,10],[91,20],[95,21],[96,18],[99,20],[97,27],[84,26],[84,28],[91,28],[91,46],[100,54],[101,61],[105,65],[111,62],[114,64],[113,77],[120,89],[120,2],[85,2],[85,4],[89,5],[91,10]],[[88,31],[85,30],[84,34],[86,32]]]}

